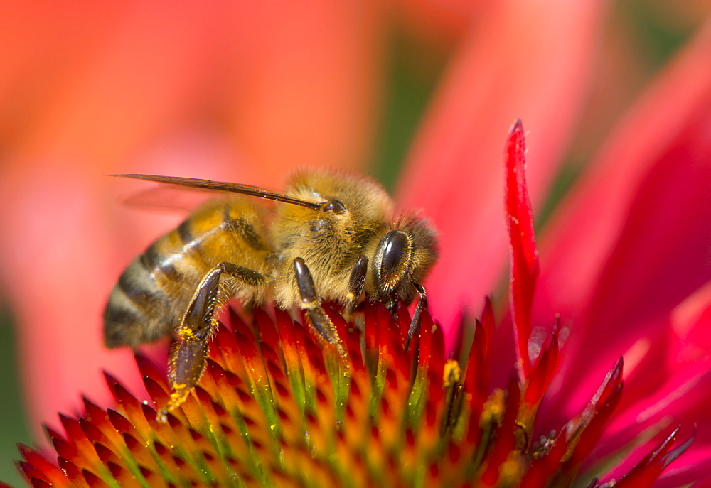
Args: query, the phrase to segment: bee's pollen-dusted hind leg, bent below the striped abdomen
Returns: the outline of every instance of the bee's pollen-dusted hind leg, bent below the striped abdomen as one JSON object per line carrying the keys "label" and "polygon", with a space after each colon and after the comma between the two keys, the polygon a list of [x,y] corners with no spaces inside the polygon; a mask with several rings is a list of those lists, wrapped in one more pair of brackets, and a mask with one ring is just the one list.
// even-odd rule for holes
{"label": "bee's pollen-dusted hind leg, bent below the striped abdomen", "polygon": [[[173,393],[159,411],[159,420],[186,400],[198,384],[208,358],[208,343],[215,333],[215,312],[230,298],[232,290],[220,278],[230,277],[242,285],[258,288],[267,283],[261,273],[232,263],[220,263],[211,269],[196,288],[178,327],[180,342],[171,350],[169,380]],[[234,288],[234,286],[232,286]]]}

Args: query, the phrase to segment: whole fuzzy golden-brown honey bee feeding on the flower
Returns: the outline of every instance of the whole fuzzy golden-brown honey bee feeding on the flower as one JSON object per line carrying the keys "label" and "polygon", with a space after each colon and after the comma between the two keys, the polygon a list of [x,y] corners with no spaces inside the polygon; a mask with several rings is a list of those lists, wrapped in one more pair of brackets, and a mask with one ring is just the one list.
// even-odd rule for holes
{"label": "whole fuzzy golden-brown honey bee feeding on the flower", "polygon": [[[314,329],[341,349],[322,307],[340,303],[349,315],[365,299],[395,313],[397,300],[419,296],[409,345],[427,307],[422,281],[437,259],[427,219],[395,216],[392,199],[361,175],[296,173],[284,193],[235,183],[154,175],[124,178],[232,193],[198,207],[176,229],[134,259],[114,286],[104,312],[105,345],[137,347],[176,334],[169,404],[180,405],[205,369],[215,315],[230,298],[306,311]],[[277,202],[273,214],[250,196]],[[407,347],[406,345],[406,347]]]}

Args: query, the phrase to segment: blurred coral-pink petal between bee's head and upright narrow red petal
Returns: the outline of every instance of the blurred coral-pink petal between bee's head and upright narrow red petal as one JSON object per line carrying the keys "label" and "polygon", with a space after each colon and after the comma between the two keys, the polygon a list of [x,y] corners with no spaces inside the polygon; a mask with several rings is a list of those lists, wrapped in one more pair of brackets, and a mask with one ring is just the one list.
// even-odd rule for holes
{"label": "blurred coral-pink petal between bee's head and upright narrow red petal", "polygon": [[501,151],[514,119],[531,131],[534,205],[555,174],[587,87],[603,3],[494,2],[444,78],[408,161],[400,195],[440,232],[429,279],[433,310],[451,326],[479,310],[506,260]]}

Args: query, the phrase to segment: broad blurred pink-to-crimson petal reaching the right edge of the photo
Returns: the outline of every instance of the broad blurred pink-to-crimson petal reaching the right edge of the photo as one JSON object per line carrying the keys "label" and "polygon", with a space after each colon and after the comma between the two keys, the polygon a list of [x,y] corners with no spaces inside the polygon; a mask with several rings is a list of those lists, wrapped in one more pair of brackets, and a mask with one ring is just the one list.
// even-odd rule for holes
{"label": "broad blurred pink-to-crimson petal reaching the right edge of the photo", "polygon": [[534,323],[572,324],[559,386],[585,388],[711,278],[710,57],[708,23],[545,229]]}

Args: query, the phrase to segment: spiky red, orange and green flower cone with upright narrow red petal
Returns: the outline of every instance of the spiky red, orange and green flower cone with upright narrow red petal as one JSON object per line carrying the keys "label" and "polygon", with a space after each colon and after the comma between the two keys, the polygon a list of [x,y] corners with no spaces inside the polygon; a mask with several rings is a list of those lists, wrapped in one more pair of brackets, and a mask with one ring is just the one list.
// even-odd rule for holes
{"label": "spiky red, orange and green flower cone with upright narrow red petal", "polygon": [[[539,269],[523,153],[517,122],[506,148],[519,357],[517,368],[509,365],[508,388],[487,386],[488,372],[506,355],[491,341],[496,324],[488,302],[469,350],[457,345],[449,358],[442,327],[429,313],[408,340],[402,304],[393,319],[382,304],[366,303],[362,329],[328,310],[342,347],[282,310],[273,318],[256,310],[251,325],[232,313],[234,332],[218,329],[201,383],[165,423],[156,410],[170,398],[166,378],[139,356],[153,406],[107,375],[117,409],[85,399],[84,417],[60,417],[65,433],[47,430],[58,466],[21,447],[21,469],[35,487],[651,486],[693,440],[675,442],[678,428],[647,445],[648,454],[617,481],[597,482],[606,469],[600,465],[581,471],[620,401],[622,359],[577,416],[533,442],[559,345],[554,327],[535,357],[526,347]],[[610,450],[621,448],[609,442]]]}

